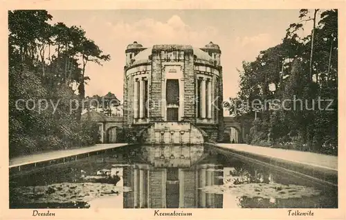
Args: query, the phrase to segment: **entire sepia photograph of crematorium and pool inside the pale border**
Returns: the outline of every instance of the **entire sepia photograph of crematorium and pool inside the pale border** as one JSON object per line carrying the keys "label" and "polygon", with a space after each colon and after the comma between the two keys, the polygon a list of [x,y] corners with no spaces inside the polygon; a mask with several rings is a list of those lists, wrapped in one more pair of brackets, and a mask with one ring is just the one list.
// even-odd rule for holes
{"label": "entire sepia photograph of crematorium and pool inside the pale border", "polygon": [[339,13],[7,10],[6,206],[338,210]]}

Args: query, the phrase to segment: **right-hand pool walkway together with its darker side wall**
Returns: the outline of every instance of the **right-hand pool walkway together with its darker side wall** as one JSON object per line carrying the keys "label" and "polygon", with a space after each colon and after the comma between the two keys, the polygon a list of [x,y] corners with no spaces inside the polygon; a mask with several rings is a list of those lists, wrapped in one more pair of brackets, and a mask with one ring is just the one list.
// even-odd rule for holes
{"label": "right-hand pool walkway together with its darker side wall", "polygon": [[298,150],[266,148],[247,144],[217,143],[217,150],[253,164],[299,177],[323,188],[338,186],[338,157]]}

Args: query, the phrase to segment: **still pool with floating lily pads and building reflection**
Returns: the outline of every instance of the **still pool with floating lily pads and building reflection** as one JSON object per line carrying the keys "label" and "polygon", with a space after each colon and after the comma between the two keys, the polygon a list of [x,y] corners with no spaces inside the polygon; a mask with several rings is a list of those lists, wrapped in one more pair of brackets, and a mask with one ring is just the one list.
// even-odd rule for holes
{"label": "still pool with floating lily pads and building reflection", "polygon": [[336,189],[203,146],[118,148],[10,177],[10,208],[337,208]]}

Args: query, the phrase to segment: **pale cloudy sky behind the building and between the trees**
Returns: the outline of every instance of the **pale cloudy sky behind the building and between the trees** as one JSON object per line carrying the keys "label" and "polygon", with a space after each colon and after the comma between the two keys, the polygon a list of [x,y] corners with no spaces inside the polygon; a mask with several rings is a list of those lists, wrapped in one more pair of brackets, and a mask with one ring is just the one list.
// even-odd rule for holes
{"label": "pale cloudy sky behind the building and between the trees", "polygon": [[[53,23],[82,26],[86,37],[111,55],[98,66],[88,63],[91,78],[86,96],[116,94],[122,100],[125,50],[137,41],[188,44],[202,48],[210,41],[221,49],[224,99],[236,97],[242,61],[254,61],[261,50],[282,41],[286,28],[297,22],[299,10],[50,10]],[[306,30],[307,31],[307,30]]]}

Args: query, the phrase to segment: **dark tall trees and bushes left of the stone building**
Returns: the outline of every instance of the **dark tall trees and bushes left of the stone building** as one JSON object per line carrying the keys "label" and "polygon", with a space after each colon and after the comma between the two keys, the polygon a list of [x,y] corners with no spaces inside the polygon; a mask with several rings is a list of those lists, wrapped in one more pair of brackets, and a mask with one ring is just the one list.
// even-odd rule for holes
{"label": "dark tall trees and bushes left of the stone building", "polygon": [[52,26],[51,19],[46,10],[8,12],[10,157],[99,140],[98,126],[80,121],[71,101],[84,99],[86,63],[110,57],[81,27]]}

